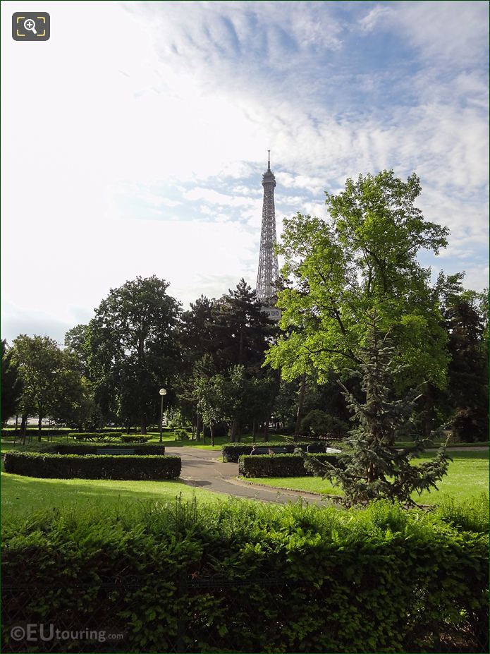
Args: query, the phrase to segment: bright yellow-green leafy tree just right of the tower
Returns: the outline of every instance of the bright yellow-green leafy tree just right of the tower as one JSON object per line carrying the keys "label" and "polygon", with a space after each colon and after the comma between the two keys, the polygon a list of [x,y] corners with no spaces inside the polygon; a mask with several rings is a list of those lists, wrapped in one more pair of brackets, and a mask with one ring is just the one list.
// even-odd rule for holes
{"label": "bright yellow-green leafy tree just right of the tower", "polygon": [[415,174],[406,182],[393,171],[360,175],[348,179],[342,193],[326,194],[329,220],[301,214],[285,220],[279,252],[289,284],[277,304],[286,335],[267,356],[283,377],[302,374],[302,358],[320,381],[331,369],[359,365],[356,351],[365,340],[367,315],[376,310],[380,328],[391,329],[406,364],[400,387],[421,380],[445,384],[446,333],[430,270],[417,253],[439,252],[448,230],[424,220],[415,206],[420,191]]}

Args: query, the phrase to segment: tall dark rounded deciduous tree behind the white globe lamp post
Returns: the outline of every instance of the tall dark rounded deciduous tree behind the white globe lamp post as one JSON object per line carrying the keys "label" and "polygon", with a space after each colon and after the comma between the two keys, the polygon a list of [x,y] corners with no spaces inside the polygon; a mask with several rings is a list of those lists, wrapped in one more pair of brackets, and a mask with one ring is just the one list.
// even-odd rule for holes
{"label": "tall dark rounded deciduous tree behind the white globe lamp post", "polygon": [[137,416],[142,434],[176,372],[180,305],[155,276],[111,289],[89,325],[90,377],[106,416]]}

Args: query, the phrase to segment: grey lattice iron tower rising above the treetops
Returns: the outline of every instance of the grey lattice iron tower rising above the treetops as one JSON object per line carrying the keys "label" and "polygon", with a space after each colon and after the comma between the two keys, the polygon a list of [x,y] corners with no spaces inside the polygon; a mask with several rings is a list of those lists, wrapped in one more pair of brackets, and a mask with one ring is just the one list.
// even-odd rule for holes
{"label": "grey lattice iron tower rising above the treetops", "polygon": [[257,272],[257,297],[264,306],[275,304],[274,284],[279,277],[276,246],[276,208],[274,207],[274,188],[276,178],[271,171],[271,151],[269,150],[267,171],[262,175],[264,202],[262,204],[262,229],[260,231],[259,272]]}

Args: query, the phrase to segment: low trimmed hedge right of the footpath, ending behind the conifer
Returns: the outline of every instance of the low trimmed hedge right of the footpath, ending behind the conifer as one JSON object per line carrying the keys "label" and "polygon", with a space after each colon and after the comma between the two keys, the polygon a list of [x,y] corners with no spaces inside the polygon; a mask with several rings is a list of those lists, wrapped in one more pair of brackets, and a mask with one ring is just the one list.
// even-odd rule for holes
{"label": "low trimmed hedge right of the footpath, ending behind the conifer", "polygon": [[[338,466],[341,454],[312,454],[319,461]],[[243,477],[309,477],[312,473],[298,454],[242,454],[238,459],[238,474]]]}

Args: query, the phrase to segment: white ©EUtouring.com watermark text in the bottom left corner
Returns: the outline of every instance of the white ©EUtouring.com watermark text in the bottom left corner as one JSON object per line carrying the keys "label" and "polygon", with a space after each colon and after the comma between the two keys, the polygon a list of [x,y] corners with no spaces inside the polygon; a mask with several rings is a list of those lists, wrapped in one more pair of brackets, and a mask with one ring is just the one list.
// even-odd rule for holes
{"label": "white \u00a9EUtouring.com watermark text in the bottom left corner", "polygon": [[55,624],[28,622],[11,627],[10,635],[13,641],[38,643],[39,641],[64,641],[87,643],[106,643],[106,641],[122,641],[125,634],[122,631],[107,629],[59,629]]}

